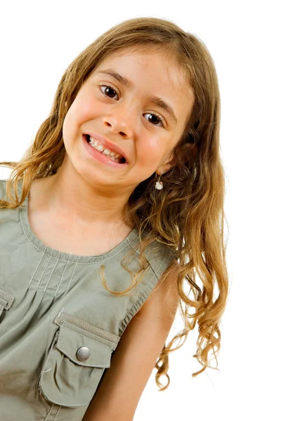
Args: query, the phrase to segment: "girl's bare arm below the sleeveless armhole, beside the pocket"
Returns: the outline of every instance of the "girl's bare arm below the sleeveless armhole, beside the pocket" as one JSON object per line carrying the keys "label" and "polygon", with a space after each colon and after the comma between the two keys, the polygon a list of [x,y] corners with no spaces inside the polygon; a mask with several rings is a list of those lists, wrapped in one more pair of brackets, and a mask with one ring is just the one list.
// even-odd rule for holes
{"label": "girl's bare arm below the sleeveless armhole, beside the pocket", "polygon": [[175,279],[157,285],[133,316],[112,354],[83,421],[132,421],[165,345],[178,307]]}

